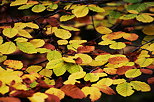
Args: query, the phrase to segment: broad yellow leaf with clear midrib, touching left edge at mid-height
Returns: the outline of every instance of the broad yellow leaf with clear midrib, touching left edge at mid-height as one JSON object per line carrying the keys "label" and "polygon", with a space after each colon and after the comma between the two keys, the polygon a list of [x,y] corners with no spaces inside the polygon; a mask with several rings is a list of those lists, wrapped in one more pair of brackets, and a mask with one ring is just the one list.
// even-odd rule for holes
{"label": "broad yellow leaf with clear midrib, touching left edge at mid-height", "polygon": [[2,54],[11,54],[16,51],[16,45],[13,42],[5,42],[0,45],[0,52]]}

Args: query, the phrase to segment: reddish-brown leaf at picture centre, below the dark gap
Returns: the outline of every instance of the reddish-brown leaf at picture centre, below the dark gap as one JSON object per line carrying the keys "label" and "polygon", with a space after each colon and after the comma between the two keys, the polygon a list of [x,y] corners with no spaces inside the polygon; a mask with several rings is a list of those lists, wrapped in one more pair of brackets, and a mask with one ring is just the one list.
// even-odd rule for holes
{"label": "reddish-brown leaf at picture centre, below the dark gap", "polygon": [[95,47],[94,46],[80,46],[78,47],[77,51],[80,53],[89,53],[91,51],[94,51]]}

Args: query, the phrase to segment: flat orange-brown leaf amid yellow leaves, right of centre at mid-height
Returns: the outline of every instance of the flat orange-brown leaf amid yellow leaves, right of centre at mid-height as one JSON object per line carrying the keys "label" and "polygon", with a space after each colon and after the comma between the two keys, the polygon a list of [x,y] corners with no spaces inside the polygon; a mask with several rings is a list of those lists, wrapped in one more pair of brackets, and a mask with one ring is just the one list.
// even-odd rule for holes
{"label": "flat orange-brown leaf amid yellow leaves, right of centre at mid-height", "polygon": [[120,64],[124,62],[128,62],[129,60],[126,57],[112,57],[109,58],[109,63],[111,64]]}

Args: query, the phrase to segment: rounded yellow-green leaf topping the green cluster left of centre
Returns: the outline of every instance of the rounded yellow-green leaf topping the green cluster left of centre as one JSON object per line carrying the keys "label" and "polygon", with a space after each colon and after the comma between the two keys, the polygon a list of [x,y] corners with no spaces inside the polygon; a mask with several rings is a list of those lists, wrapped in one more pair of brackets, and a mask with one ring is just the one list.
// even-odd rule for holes
{"label": "rounded yellow-green leaf topping the green cluster left of centre", "polygon": [[56,60],[56,59],[59,59],[59,58],[62,58],[62,55],[61,55],[61,53],[59,51],[54,50],[54,51],[50,51],[47,54],[47,59],[49,61]]}

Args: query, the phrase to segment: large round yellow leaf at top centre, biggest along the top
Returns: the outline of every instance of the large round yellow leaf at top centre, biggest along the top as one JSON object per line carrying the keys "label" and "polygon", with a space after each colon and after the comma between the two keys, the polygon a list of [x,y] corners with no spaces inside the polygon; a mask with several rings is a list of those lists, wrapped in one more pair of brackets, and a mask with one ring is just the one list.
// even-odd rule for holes
{"label": "large round yellow leaf at top centre, biggest along the top", "polygon": [[89,13],[89,9],[88,7],[86,7],[86,5],[82,5],[82,6],[76,6],[73,10],[72,13],[76,16],[76,17],[84,17]]}

